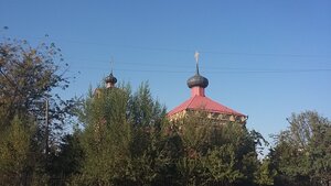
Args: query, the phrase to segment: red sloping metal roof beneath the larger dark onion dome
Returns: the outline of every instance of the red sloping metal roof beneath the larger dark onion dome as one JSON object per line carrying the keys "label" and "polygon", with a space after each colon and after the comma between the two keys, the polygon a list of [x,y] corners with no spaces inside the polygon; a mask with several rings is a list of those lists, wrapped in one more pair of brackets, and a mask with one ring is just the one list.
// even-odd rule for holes
{"label": "red sloping metal roof beneath the larger dark onion dome", "polygon": [[244,116],[228,107],[225,107],[205,96],[193,96],[189,100],[184,101],[180,106],[172,109],[168,112],[168,117],[171,117],[174,113],[181,112],[183,110],[205,110],[216,113],[234,114],[234,116]]}

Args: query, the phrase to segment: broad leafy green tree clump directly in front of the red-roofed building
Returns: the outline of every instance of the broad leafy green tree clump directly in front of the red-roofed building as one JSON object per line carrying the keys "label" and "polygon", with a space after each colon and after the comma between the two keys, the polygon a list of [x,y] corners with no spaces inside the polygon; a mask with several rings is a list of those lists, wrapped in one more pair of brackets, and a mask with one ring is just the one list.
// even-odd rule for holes
{"label": "broad leafy green tree clump directly in front of the red-roofed building", "polygon": [[175,121],[172,130],[182,141],[181,185],[254,185],[264,141],[258,132],[235,122],[215,124],[204,112]]}

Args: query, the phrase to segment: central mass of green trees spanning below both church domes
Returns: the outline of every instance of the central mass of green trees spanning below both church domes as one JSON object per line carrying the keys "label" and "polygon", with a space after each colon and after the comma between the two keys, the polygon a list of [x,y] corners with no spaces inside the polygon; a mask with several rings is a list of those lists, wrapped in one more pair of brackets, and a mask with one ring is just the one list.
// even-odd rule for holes
{"label": "central mass of green trees spanning below both church domes", "polygon": [[77,185],[255,185],[258,132],[197,113],[175,122],[147,84],[90,90],[81,109]]}

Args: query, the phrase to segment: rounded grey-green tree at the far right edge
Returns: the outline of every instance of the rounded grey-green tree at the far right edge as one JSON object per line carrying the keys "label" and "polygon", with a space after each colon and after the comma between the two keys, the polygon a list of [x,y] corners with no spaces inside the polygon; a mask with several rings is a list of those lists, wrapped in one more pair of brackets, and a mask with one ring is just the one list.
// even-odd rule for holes
{"label": "rounded grey-green tree at the far right edge", "polygon": [[314,111],[292,113],[288,130],[276,135],[270,160],[284,185],[330,183],[331,123]]}

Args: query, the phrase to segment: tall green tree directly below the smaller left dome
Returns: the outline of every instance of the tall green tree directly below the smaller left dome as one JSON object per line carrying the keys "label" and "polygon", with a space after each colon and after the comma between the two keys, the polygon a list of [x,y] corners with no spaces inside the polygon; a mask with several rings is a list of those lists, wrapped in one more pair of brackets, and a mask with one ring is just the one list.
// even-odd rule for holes
{"label": "tall green tree directly below the smaller left dome", "polygon": [[129,138],[126,121],[128,95],[121,89],[99,89],[84,103],[82,147],[83,179],[89,185],[110,185],[126,177],[129,168]]}

